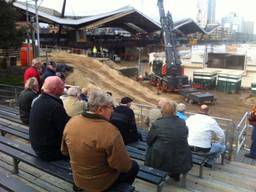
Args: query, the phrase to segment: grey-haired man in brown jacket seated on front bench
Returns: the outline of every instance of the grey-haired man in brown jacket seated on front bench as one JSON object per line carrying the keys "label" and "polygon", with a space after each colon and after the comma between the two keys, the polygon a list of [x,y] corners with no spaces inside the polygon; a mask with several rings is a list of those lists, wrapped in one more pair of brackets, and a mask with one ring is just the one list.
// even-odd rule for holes
{"label": "grey-haired man in brown jacket seated on front bench", "polygon": [[139,170],[128,156],[120,132],[108,122],[112,103],[105,92],[92,92],[89,111],[73,117],[63,133],[61,150],[70,157],[74,182],[88,191],[132,184]]}

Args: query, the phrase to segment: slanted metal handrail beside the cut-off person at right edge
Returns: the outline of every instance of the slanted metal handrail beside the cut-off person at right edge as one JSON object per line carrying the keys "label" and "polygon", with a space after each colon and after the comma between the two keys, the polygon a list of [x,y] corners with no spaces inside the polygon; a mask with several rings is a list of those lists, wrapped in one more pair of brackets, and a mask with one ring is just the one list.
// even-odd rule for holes
{"label": "slanted metal handrail beside the cut-off person at right edge", "polygon": [[251,127],[247,121],[248,115],[249,112],[246,112],[236,126],[236,130],[238,132],[236,141],[236,156],[238,156],[242,147],[245,145],[247,139],[247,130]]}

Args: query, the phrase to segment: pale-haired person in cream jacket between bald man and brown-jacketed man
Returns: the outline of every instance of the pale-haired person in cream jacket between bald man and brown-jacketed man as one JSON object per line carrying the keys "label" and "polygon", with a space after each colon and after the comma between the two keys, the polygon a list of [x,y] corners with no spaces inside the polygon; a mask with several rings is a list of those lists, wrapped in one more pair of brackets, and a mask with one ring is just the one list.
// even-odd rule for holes
{"label": "pale-haired person in cream jacket between bald man and brown-jacketed man", "polygon": [[80,115],[86,110],[86,102],[79,99],[80,88],[73,86],[67,90],[67,97],[63,100],[64,108],[70,117]]}

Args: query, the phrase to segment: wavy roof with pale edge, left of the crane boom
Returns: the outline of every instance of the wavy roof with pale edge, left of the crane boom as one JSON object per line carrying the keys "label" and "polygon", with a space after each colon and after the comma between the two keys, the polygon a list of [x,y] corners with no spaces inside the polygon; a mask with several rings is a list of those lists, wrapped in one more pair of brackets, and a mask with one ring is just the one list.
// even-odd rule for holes
{"label": "wavy roof with pale edge, left of the crane boom", "polygon": [[[26,4],[14,2],[14,7],[26,11]],[[28,6],[28,12],[35,14],[35,9]],[[101,26],[122,27],[129,32],[154,32],[161,29],[159,23],[147,17],[131,6],[126,6],[111,12],[94,16],[85,16],[79,19],[60,18],[43,10],[38,11],[39,20],[50,24],[67,25],[75,28],[93,29]],[[136,18],[136,19],[135,19]]]}

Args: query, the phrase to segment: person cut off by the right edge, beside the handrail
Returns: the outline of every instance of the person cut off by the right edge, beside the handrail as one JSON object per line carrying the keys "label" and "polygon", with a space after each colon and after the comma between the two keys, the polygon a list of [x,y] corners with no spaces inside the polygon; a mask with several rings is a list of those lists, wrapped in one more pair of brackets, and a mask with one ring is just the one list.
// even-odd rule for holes
{"label": "person cut off by the right edge, beside the handrail", "polygon": [[252,144],[249,153],[244,154],[245,157],[256,159],[256,106],[252,109],[249,117],[249,124],[252,125]]}

